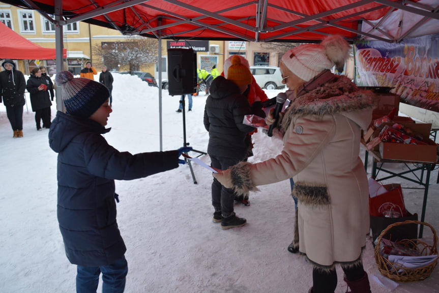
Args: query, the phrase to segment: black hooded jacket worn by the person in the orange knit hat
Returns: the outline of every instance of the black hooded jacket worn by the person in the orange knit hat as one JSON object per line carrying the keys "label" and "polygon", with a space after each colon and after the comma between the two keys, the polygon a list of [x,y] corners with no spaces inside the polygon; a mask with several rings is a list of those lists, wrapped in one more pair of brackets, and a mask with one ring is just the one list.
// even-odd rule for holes
{"label": "black hooded jacket worn by the person in the orange knit hat", "polygon": [[252,114],[250,104],[239,87],[223,76],[212,82],[204,108],[204,127],[209,131],[208,154],[245,159],[253,127],[243,124],[244,115]]}

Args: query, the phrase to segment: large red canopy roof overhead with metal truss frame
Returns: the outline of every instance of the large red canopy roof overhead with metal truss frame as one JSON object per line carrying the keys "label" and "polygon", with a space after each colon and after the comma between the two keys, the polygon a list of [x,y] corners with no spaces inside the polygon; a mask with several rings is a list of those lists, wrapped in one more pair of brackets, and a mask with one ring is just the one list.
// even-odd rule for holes
{"label": "large red canopy roof overhead with metal truss frame", "polygon": [[[53,0],[2,2],[54,15]],[[60,24],[85,21],[124,35],[174,40],[310,42],[338,34],[348,40],[398,42],[415,30],[425,34],[426,25],[437,33],[438,5],[439,0],[64,0]],[[404,19],[383,27],[395,11],[405,12]],[[412,19],[413,30],[407,28]],[[394,35],[389,26],[396,27]]]}

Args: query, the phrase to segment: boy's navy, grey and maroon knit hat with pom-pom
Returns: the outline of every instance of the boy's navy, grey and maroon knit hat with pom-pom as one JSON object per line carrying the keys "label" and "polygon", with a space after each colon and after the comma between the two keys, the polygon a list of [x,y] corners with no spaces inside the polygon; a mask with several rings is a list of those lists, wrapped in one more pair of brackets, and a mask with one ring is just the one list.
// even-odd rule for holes
{"label": "boy's navy, grey and maroon knit hat with pom-pom", "polygon": [[73,78],[69,71],[56,74],[57,86],[62,86],[62,98],[70,115],[89,118],[110,97],[102,83],[88,78]]}

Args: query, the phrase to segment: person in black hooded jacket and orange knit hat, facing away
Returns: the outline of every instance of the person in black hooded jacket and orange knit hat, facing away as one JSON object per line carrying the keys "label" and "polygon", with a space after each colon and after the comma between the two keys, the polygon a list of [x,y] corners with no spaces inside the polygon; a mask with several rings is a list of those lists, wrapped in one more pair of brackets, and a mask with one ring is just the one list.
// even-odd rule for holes
{"label": "person in black hooded jacket and orange knit hat, facing away", "polygon": [[[224,170],[247,159],[248,133],[254,128],[243,124],[244,115],[252,114],[243,95],[252,82],[250,70],[236,56],[228,69],[227,79],[218,76],[212,82],[204,108],[204,127],[209,131],[208,154],[214,168]],[[244,226],[246,219],[233,212],[235,192],[214,178],[212,183],[213,222],[222,229]]]}

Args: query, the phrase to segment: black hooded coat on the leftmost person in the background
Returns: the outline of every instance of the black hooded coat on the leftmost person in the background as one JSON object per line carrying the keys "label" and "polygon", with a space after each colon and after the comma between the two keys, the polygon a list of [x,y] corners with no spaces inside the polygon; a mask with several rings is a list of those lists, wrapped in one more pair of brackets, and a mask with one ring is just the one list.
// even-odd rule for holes
{"label": "black hooded coat on the leftmost person in the background", "polygon": [[0,72],[0,103],[3,102],[7,107],[23,106],[25,104],[24,91],[26,90],[26,80],[23,73],[15,69],[12,60],[5,60],[5,63],[13,64],[12,70]]}

